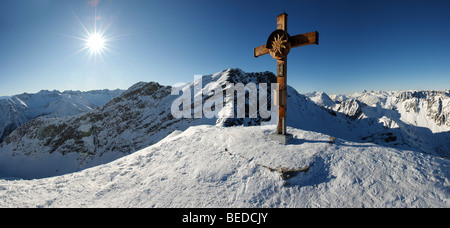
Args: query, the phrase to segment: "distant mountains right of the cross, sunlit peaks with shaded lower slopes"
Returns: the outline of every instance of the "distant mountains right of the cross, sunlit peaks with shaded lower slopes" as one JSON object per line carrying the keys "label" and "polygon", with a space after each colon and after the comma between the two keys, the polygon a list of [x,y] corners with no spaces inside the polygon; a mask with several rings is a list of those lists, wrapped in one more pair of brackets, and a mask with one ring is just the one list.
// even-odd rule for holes
{"label": "distant mountains right of the cross, sunlit peaks with shaded lower slopes", "polygon": [[[334,103],[316,104],[342,113],[352,124],[369,129],[361,139],[411,146],[427,154],[450,157],[450,91],[364,91],[330,96]],[[323,95],[321,95],[322,97]],[[382,129],[374,129],[382,126]]]}

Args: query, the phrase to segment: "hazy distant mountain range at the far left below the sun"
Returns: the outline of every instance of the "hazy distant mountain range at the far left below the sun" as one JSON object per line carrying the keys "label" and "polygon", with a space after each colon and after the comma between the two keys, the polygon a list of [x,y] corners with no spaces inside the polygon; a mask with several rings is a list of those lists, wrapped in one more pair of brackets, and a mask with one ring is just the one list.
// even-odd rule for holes
{"label": "hazy distant mountain range at the far left below the sun", "polygon": [[16,128],[36,118],[77,115],[104,105],[122,90],[88,92],[42,90],[0,99],[0,143]]}

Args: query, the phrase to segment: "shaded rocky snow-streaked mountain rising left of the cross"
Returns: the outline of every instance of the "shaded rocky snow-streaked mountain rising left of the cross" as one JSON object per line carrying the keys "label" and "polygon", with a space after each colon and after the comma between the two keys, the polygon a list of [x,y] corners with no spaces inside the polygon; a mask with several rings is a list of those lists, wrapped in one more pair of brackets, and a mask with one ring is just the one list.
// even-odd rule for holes
{"label": "shaded rocky snow-streaked mountain rising left of the cross", "polygon": [[[275,75],[228,69],[200,80],[203,85],[212,81],[220,85],[274,82]],[[198,83],[197,80],[185,87],[194,87]],[[171,91],[172,87],[156,82],[139,82],[91,111],[75,116],[33,119],[16,129],[0,145],[0,176],[61,175],[128,155],[157,143],[174,130],[202,124],[248,126],[259,123],[257,119],[249,118],[176,119],[171,115],[171,105],[177,96],[171,95]],[[198,96],[208,95],[200,93],[194,97]]]}

